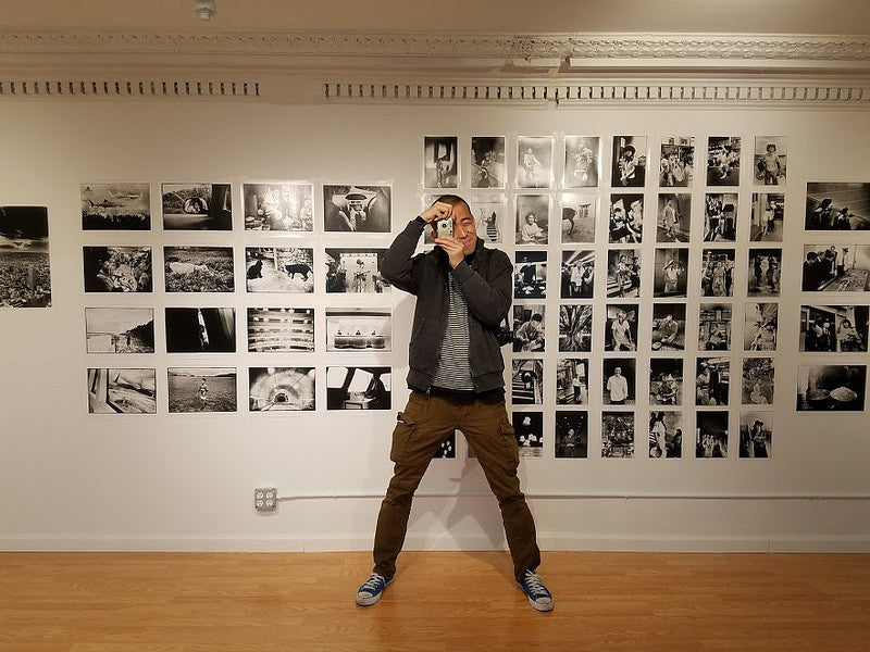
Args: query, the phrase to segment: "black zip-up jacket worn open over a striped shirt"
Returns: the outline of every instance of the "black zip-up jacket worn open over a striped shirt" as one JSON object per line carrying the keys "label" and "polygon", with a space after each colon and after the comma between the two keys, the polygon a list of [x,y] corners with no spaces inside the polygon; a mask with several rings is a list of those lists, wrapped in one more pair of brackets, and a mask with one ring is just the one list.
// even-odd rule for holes
{"label": "black zip-up jacket worn open over a striped shirt", "polygon": [[[469,361],[474,391],[505,387],[505,361],[498,343],[501,321],[510,310],[513,266],[498,249],[487,249],[477,238],[474,253],[450,269],[447,252],[436,247],[413,255],[425,228],[412,220],[390,244],[382,274],[397,288],[417,297],[409,347],[408,387],[427,392],[438,368],[447,331],[448,274],[462,288],[469,305]],[[413,258],[411,258],[413,256]]]}

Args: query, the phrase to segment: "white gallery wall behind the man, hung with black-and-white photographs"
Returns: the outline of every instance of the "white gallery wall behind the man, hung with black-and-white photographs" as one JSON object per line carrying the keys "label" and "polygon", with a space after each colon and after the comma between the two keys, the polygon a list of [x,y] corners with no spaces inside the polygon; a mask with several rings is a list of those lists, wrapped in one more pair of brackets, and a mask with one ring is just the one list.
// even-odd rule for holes
{"label": "white gallery wall behind the man, hung with black-and-white photographs", "polygon": [[[325,234],[323,184],[388,184],[393,187],[393,234],[421,210],[424,135],[459,137],[459,193],[472,191],[470,139],[505,136],[509,162],[506,191],[512,215],[519,136],[554,136],[557,178],[564,135],[599,136],[601,185],[595,246],[561,244],[559,220],[550,220],[547,349],[543,405],[543,456],[523,459],[524,490],[546,549],[618,550],[870,550],[870,434],[867,402],[860,412],[795,409],[799,364],[870,364],[868,353],[798,352],[801,303],[867,304],[870,293],[800,292],[804,244],[870,246],[867,231],[805,231],[807,181],[870,181],[870,122],[866,111],[811,108],[576,109],[504,106],[321,105],[274,106],[254,102],[171,100],[26,100],[0,102],[0,205],[45,205],[49,215],[52,304],[48,309],[0,309],[0,549],[4,550],[363,550],[391,465],[390,431],[407,391],[407,346],[413,298],[393,289],[383,294],[327,294],[324,248],[387,247],[391,236]],[[649,170],[642,252],[644,291],[638,312],[635,453],[601,457],[600,386],[604,351],[607,200],[610,148],[614,135],[646,136]],[[692,195],[683,423],[683,456],[652,460],[647,451],[649,415],[655,205],[661,140],[693,136],[695,183]],[[732,387],[728,456],[694,456],[693,378],[697,356],[708,136],[743,140],[738,195],[735,296],[731,361]],[[775,394],[770,459],[739,459],[739,365],[746,297],[749,214],[754,191],[756,136],[787,138],[787,184],[782,241]],[[314,233],[262,235],[245,231],[241,184],[300,180],[314,184]],[[82,184],[149,183],[150,231],[84,231]],[[232,231],[164,231],[161,183],[228,183],[233,191]],[[768,189],[769,190],[769,189]],[[619,190],[614,189],[614,192]],[[561,190],[543,191],[558,214]],[[586,193],[586,190],[583,190]],[[639,190],[638,190],[639,192]],[[511,255],[512,225],[502,246]],[[85,246],[144,244],[154,251],[154,292],[85,293]],[[235,292],[167,294],[163,291],[164,246],[232,246]],[[314,249],[311,294],[251,294],[245,290],[245,247],[306,246]],[[753,244],[755,246],[755,244]],[[774,244],[766,244],[772,247]],[[596,250],[593,350],[589,359],[588,457],[556,459],[554,430],[561,251]],[[765,299],[766,301],[768,299]],[[236,353],[169,354],[165,306],[231,306],[236,310]],[[313,353],[249,353],[245,312],[254,305],[315,309]],[[88,354],[85,308],[145,306],[156,312],[156,353]],[[391,308],[391,352],[326,352],[326,308]],[[502,349],[508,369],[511,354]],[[620,354],[624,355],[624,354]],[[326,411],[326,367],[393,367],[393,409],[383,412]],[[157,414],[88,414],[88,367],[138,366],[157,369]],[[238,372],[238,410],[221,414],[169,414],[167,367],[221,366]],[[316,369],[314,412],[251,413],[247,369],[257,366],[312,366]],[[510,386],[509,371],[506,379]],[[559,406],[559,409],[568,409]],[[509,406],[510,410],[510,406]],[[504,546],[500,516],[483,474],[458,454],[433,461],[414,502],[409,548],[488,549]],[[273,514],[253,509],[254,487],[276,487]]]}

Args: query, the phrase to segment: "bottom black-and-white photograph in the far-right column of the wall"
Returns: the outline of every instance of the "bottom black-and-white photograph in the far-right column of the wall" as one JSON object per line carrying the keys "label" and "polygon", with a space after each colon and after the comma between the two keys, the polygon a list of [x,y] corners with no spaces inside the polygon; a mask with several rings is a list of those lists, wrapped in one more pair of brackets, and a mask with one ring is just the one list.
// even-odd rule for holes
{"label": "bottom black-and-white photograph in the far-right column of the wall", "polygon": [[797,367],[797,411],[862,411],[867,366],[812,364]]}

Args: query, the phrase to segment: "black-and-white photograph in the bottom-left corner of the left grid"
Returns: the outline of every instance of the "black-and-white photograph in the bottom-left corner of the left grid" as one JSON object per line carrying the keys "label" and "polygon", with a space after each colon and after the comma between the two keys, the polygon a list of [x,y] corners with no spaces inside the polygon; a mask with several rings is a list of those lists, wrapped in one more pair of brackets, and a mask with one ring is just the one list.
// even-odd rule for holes
{"label": "black-and-white photograph in the bottom-left corner of the left grid", "polygon": [[89,414],[157,414],[157,372],[89,368]]}

